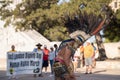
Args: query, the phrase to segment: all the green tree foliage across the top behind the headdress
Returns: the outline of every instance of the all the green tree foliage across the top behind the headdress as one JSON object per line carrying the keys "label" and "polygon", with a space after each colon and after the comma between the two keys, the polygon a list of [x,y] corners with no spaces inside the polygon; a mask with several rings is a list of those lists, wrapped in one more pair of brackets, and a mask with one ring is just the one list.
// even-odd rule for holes
{"label": "all the green tree foliage across the top behind the headdress", "polygon": [[[8,7],[11,2],[5,1],[0,7],[1,19],[6,22],[5,26],[13,24],[17,29],[35,29],[49,40],[64,40],[68,38],[69,31],[65,26],[67,16],[74,19],[76,15],[84,12],[102,14],[101,8],[110,3],[111,0],[70,0],[68,3],[57,4],[58,0],[24,0],[14,10]],[[80,8],[85,4],[84,8]],[[120,10],[116,13],[117,25],[120,23]],[[116,28],[114,21],[112,27],[104,30],[105,37],[111,41],[119,41],[119,28]],[[114,27],[113,27],[114,26]],[[113,31],[114,30],[114,31]],[[117,32],[116,32],[117,31]],[[111,32],[111,34],[109,34]],[[113,33],[114,32],[114,33]],[[117,36],[115,36],[117,35]],[[114,36],[114,37],[113,37]],[[110,37],[110,38],[109,38]],[[114,38],[114,40],[112,40]]]}

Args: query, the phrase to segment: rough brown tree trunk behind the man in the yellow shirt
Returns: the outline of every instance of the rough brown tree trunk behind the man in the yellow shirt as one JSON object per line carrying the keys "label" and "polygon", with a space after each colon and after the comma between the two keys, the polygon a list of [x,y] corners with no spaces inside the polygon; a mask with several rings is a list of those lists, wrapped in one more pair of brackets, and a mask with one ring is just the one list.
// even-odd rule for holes
{"label": "rough brown tree trunk behind the man in the yellow shirt", "polygon": [[107,56],[105,53],[105,48],[104,48],[102,37],[101,37],[100,33],[97,33],[95,35],[95,39],[96,39],[96,43],[97,43],[98,51],[99,51],[98,60],[103,61],[103,60],[107,59]]}

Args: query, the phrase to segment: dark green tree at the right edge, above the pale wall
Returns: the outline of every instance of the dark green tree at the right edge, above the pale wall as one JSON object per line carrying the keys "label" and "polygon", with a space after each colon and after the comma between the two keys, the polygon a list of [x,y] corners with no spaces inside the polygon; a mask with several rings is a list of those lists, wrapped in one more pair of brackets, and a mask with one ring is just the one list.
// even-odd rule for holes
{"label": "dark green tree at the right edge, above the pale wall", "polygon": [[115,13],[114,20],[109,24],[109,27],[104,29],[104,37],[106,42],[120,41],[120,9]]}

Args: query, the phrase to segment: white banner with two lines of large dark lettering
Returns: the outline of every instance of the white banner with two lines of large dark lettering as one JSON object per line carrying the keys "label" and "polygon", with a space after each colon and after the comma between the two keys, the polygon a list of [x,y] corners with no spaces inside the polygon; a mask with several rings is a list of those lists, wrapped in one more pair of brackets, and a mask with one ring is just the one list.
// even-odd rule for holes
{"label": "white banner with two lines of large dark lettering", "polygon": [[8,52],[7,75],[40,74],[42,61],[42,52]]}

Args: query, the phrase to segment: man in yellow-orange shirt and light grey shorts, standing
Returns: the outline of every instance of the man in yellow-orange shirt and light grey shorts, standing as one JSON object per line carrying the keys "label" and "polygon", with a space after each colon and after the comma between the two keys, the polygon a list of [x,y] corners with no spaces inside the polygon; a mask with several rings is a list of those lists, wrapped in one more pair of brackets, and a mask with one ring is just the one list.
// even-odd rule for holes
{"label": "man in yellow-orange shirt and light grey shorts, standing", "polygon": [[94,49],[91,45],[90,41],[86,42],[86,46],[84,47],[84,58],[85,58],[85,65],[86,65],[86,72],[85,74],[92,74],[92,57],[93,57]]}

